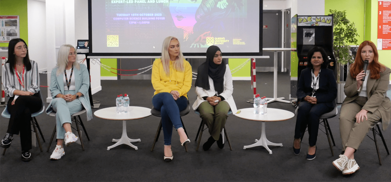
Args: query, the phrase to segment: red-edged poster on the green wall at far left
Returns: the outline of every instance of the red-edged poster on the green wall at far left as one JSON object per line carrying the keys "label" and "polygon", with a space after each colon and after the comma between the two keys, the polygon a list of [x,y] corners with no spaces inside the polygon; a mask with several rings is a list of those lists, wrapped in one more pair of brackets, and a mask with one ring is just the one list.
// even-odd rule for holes
{"label": "red-edged poster on the green wall at far left", "polygon": [[0,16],[0,42],[20,38],[19,16]]}

